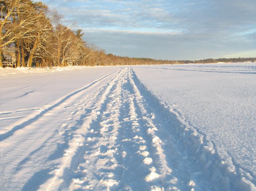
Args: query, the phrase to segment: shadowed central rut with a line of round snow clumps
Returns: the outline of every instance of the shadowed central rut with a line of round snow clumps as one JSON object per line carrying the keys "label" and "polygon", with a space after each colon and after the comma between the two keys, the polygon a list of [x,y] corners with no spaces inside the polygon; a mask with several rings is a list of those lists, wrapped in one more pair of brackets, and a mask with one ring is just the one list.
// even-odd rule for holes
{"label": "shadowed central rut with a line of round snow clumps", "polygon": [[[138,106],[137,95],[130,78],[130,71],[127,72],[123,83],[124,108],[121,116],[121,128],[119,130],[122,153],[120,163],[123,164],[123,184],[125,190],[149,190],[159,188],[157,179],[160,176],[157,172],[156,159],[151,140],[145,134],[146,123],[142,120],[142,113]],[[118,146],[120,146],[118,145]],[[118,155],[116,155],[118,156]],[[120,155],[119,155],[120,158]],[[116,190],[118,190],[116,189]]]}

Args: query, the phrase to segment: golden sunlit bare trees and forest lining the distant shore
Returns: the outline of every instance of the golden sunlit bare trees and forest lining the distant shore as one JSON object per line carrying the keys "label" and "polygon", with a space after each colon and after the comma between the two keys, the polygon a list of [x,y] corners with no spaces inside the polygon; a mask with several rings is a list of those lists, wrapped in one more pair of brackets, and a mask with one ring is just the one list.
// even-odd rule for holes
{"label": "golden sunlit bare trees and forest lining the distant shore", "polygon": [[[156,60],[106,54],[85,42],[76,23],[67,21],[55,9],[31,0],[0,0],[0,67],[105,66],[142,64],[184,64],[217,62],[256,62],[256,58],[204,60]],[[9,64],[10,65],[10,64]]]}

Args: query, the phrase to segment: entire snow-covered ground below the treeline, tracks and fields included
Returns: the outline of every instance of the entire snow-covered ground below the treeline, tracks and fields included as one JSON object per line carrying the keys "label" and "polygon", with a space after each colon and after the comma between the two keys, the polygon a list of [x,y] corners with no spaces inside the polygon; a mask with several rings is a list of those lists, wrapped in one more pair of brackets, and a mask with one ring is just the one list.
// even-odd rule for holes
{"label": "entire snow-covered ground below the treeline, tracks and fields included", "polygon": [[256,190],[256,66],[0,70],[0,190]]}

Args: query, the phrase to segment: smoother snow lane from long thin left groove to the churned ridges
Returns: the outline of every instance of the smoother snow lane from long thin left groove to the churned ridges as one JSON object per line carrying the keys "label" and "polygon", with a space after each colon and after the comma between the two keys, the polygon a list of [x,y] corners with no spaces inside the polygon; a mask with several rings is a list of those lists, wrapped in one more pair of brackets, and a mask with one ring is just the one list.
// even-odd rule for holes
{"label": "smoother snow lane from long thin left groove to the churned ridges", "polygon": [[[116,72],[71,92],[47,107],[48,109],[42,108],[43,111],[39,111],[39,114],[32,114],[27,121],[21,121],[15,131],[12,128],[10,131],[13,132],[2,134],[0,166],[1,177],[5,176],[1,179],[3,190],[21,189],[22,186],[23,190],[35,190],[40,185],[40,182],[34,182],[36,179],[42,176],[44,181],[51,177],[48,173],[61,162],[59,160],[74,136],[75,129],[80,128],[79,119],[85,115],[81,111],[86,110],[89,113],[95,107],[97,102],[92,102],[91,99],[100,96],[109,80],[116,77]],[[22,176],[24,180],[15,183],[15,177],[24,173],[27,174]]]}

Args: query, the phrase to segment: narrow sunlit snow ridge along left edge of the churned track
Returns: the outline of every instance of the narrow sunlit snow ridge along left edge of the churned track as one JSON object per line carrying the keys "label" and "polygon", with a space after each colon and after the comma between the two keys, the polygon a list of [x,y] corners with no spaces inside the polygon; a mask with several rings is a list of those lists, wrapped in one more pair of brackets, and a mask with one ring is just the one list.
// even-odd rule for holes
{"label": "narrow sunlit snow ridge along left edge of the churned track", "polygon": [[72,170],[76,168],[81,160],[83,160],[82,155],[84,153],[84,150],[87,148],[87,145],[84,146],[84,144],[86,144],[87,140],[91,140],[91,137],[86,137],[85,135],[93,132],[92,126],[95,121],[97,121],[97,119],[100,117],[102,107],[104,107],[108,103],[107,97],[111,94],[113,87],[117,83],[117,79],[122,74],[123,70],[121,70],[117,74],[112,82],[106,85],[106,89],[103,88],[104,91],[100,91],[98,100],[92,100],[95,104],[97,104],[97,106],[92,109],[90,114],[88,114],[87,118],[84,118],[80,129],[77,129],[76,131],[76,134],[79,136],[74,137],[70,141],[69,147],[66,149],[66,153],[64,154],[61,164],[57,169],[53,171],[54,177],[41,186],[42,190],[64,189],[64,187],[67,187],[67,185],[71,183],[71,181],[78,181],[77,179],[72,179],[72,177],[74,176],[73,174],[77,174],[72,172]]}

